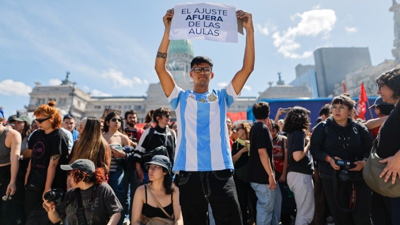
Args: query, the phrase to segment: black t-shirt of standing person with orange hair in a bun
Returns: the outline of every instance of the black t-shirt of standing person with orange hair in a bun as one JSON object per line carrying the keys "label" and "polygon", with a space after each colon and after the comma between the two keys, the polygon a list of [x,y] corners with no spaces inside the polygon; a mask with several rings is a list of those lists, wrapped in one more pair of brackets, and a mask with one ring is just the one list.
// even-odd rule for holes
{"label": "black t-shirt of standing person with orange hair in a bun", "polygon": [[32,149],[32,155],[30,156],[27,187],[43,191],[50,157],[60,154],[51,187],[65,189],[66,172],[59,165],[68,162],[68,137],[66,134],[61,129],[54,129],[48,134],[38,129],[29,138],[28,148]]}

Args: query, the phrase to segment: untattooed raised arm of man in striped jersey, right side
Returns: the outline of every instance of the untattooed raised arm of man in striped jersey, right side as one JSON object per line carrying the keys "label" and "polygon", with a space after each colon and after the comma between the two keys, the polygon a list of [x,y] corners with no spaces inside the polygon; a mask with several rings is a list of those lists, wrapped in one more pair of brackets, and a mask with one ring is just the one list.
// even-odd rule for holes
{"label": "untattooed raised arm of man in striped jersey, right side", "polygon": [[244,48],[243,66],[232,79],[232,86],[236,94],[239,94],[248,76],[254,69],[255,50],[254,50],[254,27],[251,13],[243,10],[236,11],[236,17],[242,19],[243,27],[246,29],[246,46]]}

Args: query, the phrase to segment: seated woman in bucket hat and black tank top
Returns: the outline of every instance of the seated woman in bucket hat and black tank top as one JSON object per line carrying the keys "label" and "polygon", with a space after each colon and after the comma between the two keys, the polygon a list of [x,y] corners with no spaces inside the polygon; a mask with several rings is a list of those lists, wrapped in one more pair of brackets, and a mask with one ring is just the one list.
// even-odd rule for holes
{"label": "seated woman in bucket hat and black tank top", "polygon": [[[179,190],[172,183],[169,158],[164,155],[155,155],[144,166],[148,170],[150,182],[137,187],[134,193],[131,223],[140,225],[145,218],[172,217],[175,224],[183,224]],[[158,207],[151,193],[169,216]]]}

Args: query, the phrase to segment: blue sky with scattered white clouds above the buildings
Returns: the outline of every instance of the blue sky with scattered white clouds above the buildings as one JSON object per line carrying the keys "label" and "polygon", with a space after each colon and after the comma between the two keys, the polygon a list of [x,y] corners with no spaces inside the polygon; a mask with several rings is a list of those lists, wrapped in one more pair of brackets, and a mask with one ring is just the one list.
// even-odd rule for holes
{"label": "blue sky with scattered white clouds above the buildings", "polygon": [[[92,95],[145,95],[166,9],[185,1],[0,1],[0,105],[5,115],[29,103],[35,81],[69,79]],[[242,96],[257,96],[276,81],[295,78],[294,67],[313,64],[323,46],[368,47],[372,64],[391,59],[391,0],[217,0],[252,13],[255,68]],[[214,61],[212,88],[240,69],[238,43],[193,40],[194,54]]]}

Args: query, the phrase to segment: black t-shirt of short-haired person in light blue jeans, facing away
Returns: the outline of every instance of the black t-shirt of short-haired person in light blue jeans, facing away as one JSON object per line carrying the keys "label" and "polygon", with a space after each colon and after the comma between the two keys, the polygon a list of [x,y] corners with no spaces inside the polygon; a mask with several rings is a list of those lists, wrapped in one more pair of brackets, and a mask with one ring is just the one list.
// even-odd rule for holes
{"label": "black t-shirt of short-haired person in light blue jeans, facing away", "polygon": [[248,159],[247,172],[244,178],[246,182],[259,184],[269,184],[268,174],[262,166],[259,158],[258,149],[266,148],[268,160],[273,170],[272,164],[272,137],[268,127],[262,122],[256,122],[250,129],[250,157]]}

